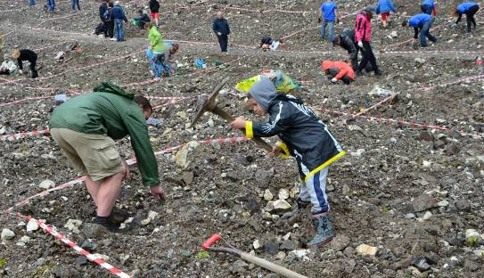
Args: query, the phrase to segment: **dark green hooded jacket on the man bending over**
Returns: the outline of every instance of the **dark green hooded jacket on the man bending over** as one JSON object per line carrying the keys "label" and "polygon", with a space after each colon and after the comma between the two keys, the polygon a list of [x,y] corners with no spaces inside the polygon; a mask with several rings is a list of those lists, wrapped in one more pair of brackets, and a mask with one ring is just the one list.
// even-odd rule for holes
{"label": "dark green hooded jacket on the man bending over", "polygon": [[129,135],[143,184],[160,185],[146,119],[134,96],[119,86],[103,82],[94,88],[94,93],[76,96],[53,110],[49,127],[108,135],[113,140]]}

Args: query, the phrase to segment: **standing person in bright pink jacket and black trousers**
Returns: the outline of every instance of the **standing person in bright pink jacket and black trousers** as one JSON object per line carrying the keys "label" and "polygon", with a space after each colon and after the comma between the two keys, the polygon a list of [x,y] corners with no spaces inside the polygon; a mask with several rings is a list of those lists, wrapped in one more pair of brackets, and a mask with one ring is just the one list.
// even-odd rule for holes
{"label": "standing person in bright pink jacket and black trousers", "polygon": [[376,64],[376,58],[374,57],[372,45],[370,42],[372,40],[372,18],[375,8],[372,4],[368,4],[365,7],[365,11],[357,15],[357,20],[355,21],[355,41],[357,42],[357,47],[363,52],[363,59],[361,59],[357,75],[363,75],[363,71],[366,68],[368,62],[371,63],[372,69],[375,76],[381,76],[383,73],[378,69]]}

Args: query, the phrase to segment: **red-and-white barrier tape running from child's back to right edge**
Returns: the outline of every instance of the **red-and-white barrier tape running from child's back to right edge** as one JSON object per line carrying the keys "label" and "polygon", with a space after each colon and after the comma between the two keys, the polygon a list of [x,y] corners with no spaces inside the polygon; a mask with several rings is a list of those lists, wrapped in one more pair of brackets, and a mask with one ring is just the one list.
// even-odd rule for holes
{"label": "red-and-white barrier tape running from child's back to right edge", "polygon": [[[415,122],[409,122],[406,120],[398,120],[398,119],[385,119],[381,117],[372,117],[372,116],[364,116],[364,115],[357,115],[357,114],[352,114],[352,113],[347,113],[343,111],[337,111],[337,110],[329,110],[329,109],[324,109],[324,108],[313,108],[314,110],[320,110],[327,112],[329,114],[335,114],[335,115],[340,115],[344,116],[347,118],[353,118],[353,119],[365,119],[367,121],[376,121],[376,122],[382,122],[382,123],[388,123],[388,124],[398,124],[401,126],[407,126],[407,127],[419,127],[422,129],[437,129],[445,132],[452,132],[455,129],[448,128],[448,127],[439,127],[439,126],[433,126],[433,125],[427,125],[427,124],[420,124],[420,123],[415,123]],[[459,135],[469,135],[474,139],[480,139],[483,138],[484,135],[482,134],[471,134],[463,130],[455,130]]]}

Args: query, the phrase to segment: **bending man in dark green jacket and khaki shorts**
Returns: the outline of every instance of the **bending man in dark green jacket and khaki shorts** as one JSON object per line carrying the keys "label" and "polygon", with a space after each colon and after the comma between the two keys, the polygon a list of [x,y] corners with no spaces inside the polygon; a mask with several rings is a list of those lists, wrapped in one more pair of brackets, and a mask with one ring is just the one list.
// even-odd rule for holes
{"label": "bending man in dark green jacket and khaki shorts", "polygon": [[146,125],[151,114],[152,106],[143,96],[128,94],[111,83],[102,83],[94,93],[74,97],[53,110],[51,135],[72,167],[86,175],[87,192],[97,208],[94,223],[111,231],[117,228],[111,211],[128,174],[114,140],[130,136],[143,184],[150,187],[152,196],[166,197]]}

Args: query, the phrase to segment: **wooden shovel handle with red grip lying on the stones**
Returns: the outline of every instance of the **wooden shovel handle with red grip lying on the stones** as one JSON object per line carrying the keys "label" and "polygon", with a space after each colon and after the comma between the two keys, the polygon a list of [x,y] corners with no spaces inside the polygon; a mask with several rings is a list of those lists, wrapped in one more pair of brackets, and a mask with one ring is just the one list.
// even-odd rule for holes
{"label": "wooden shovel handle with red grip lying on the stones", "polygon": [[281,274],[281,275],[283,275],[283,277],[287,277],[287,278],[308,278],[307,276],[295,273],[295,272],[293,272],[293,271],[291,271],[291,270],[289,270],[289,269],[287,269],[283,266],[275,265],[274,263],[271,263],[264,258],[258,258],[256,256],[250,255],[249,253],[245,253],[240,249],[236,249],[236,248],[234,248],[234,246],[230,245],[226,241],[225,241],[226,247],[211,247],[215,242],[220,241],[220,240],[225,241],[224,239],[222,239],[222,237],[219,234],[214,233],[212,236],[210,236],[210,238],[207,241],[205,241],[205,243],[203,243],[203,245],[201,246],[201,249],[204,249],[206,251],[221,252],[221,253],[227,253],[227,254],[230,254],[230,255],[234,255],[234,256],[242,258],[243,260],[248,261],[248,262],[250,262],[254,265],[264,267],[267,270],[274,272],[275,274]]}

